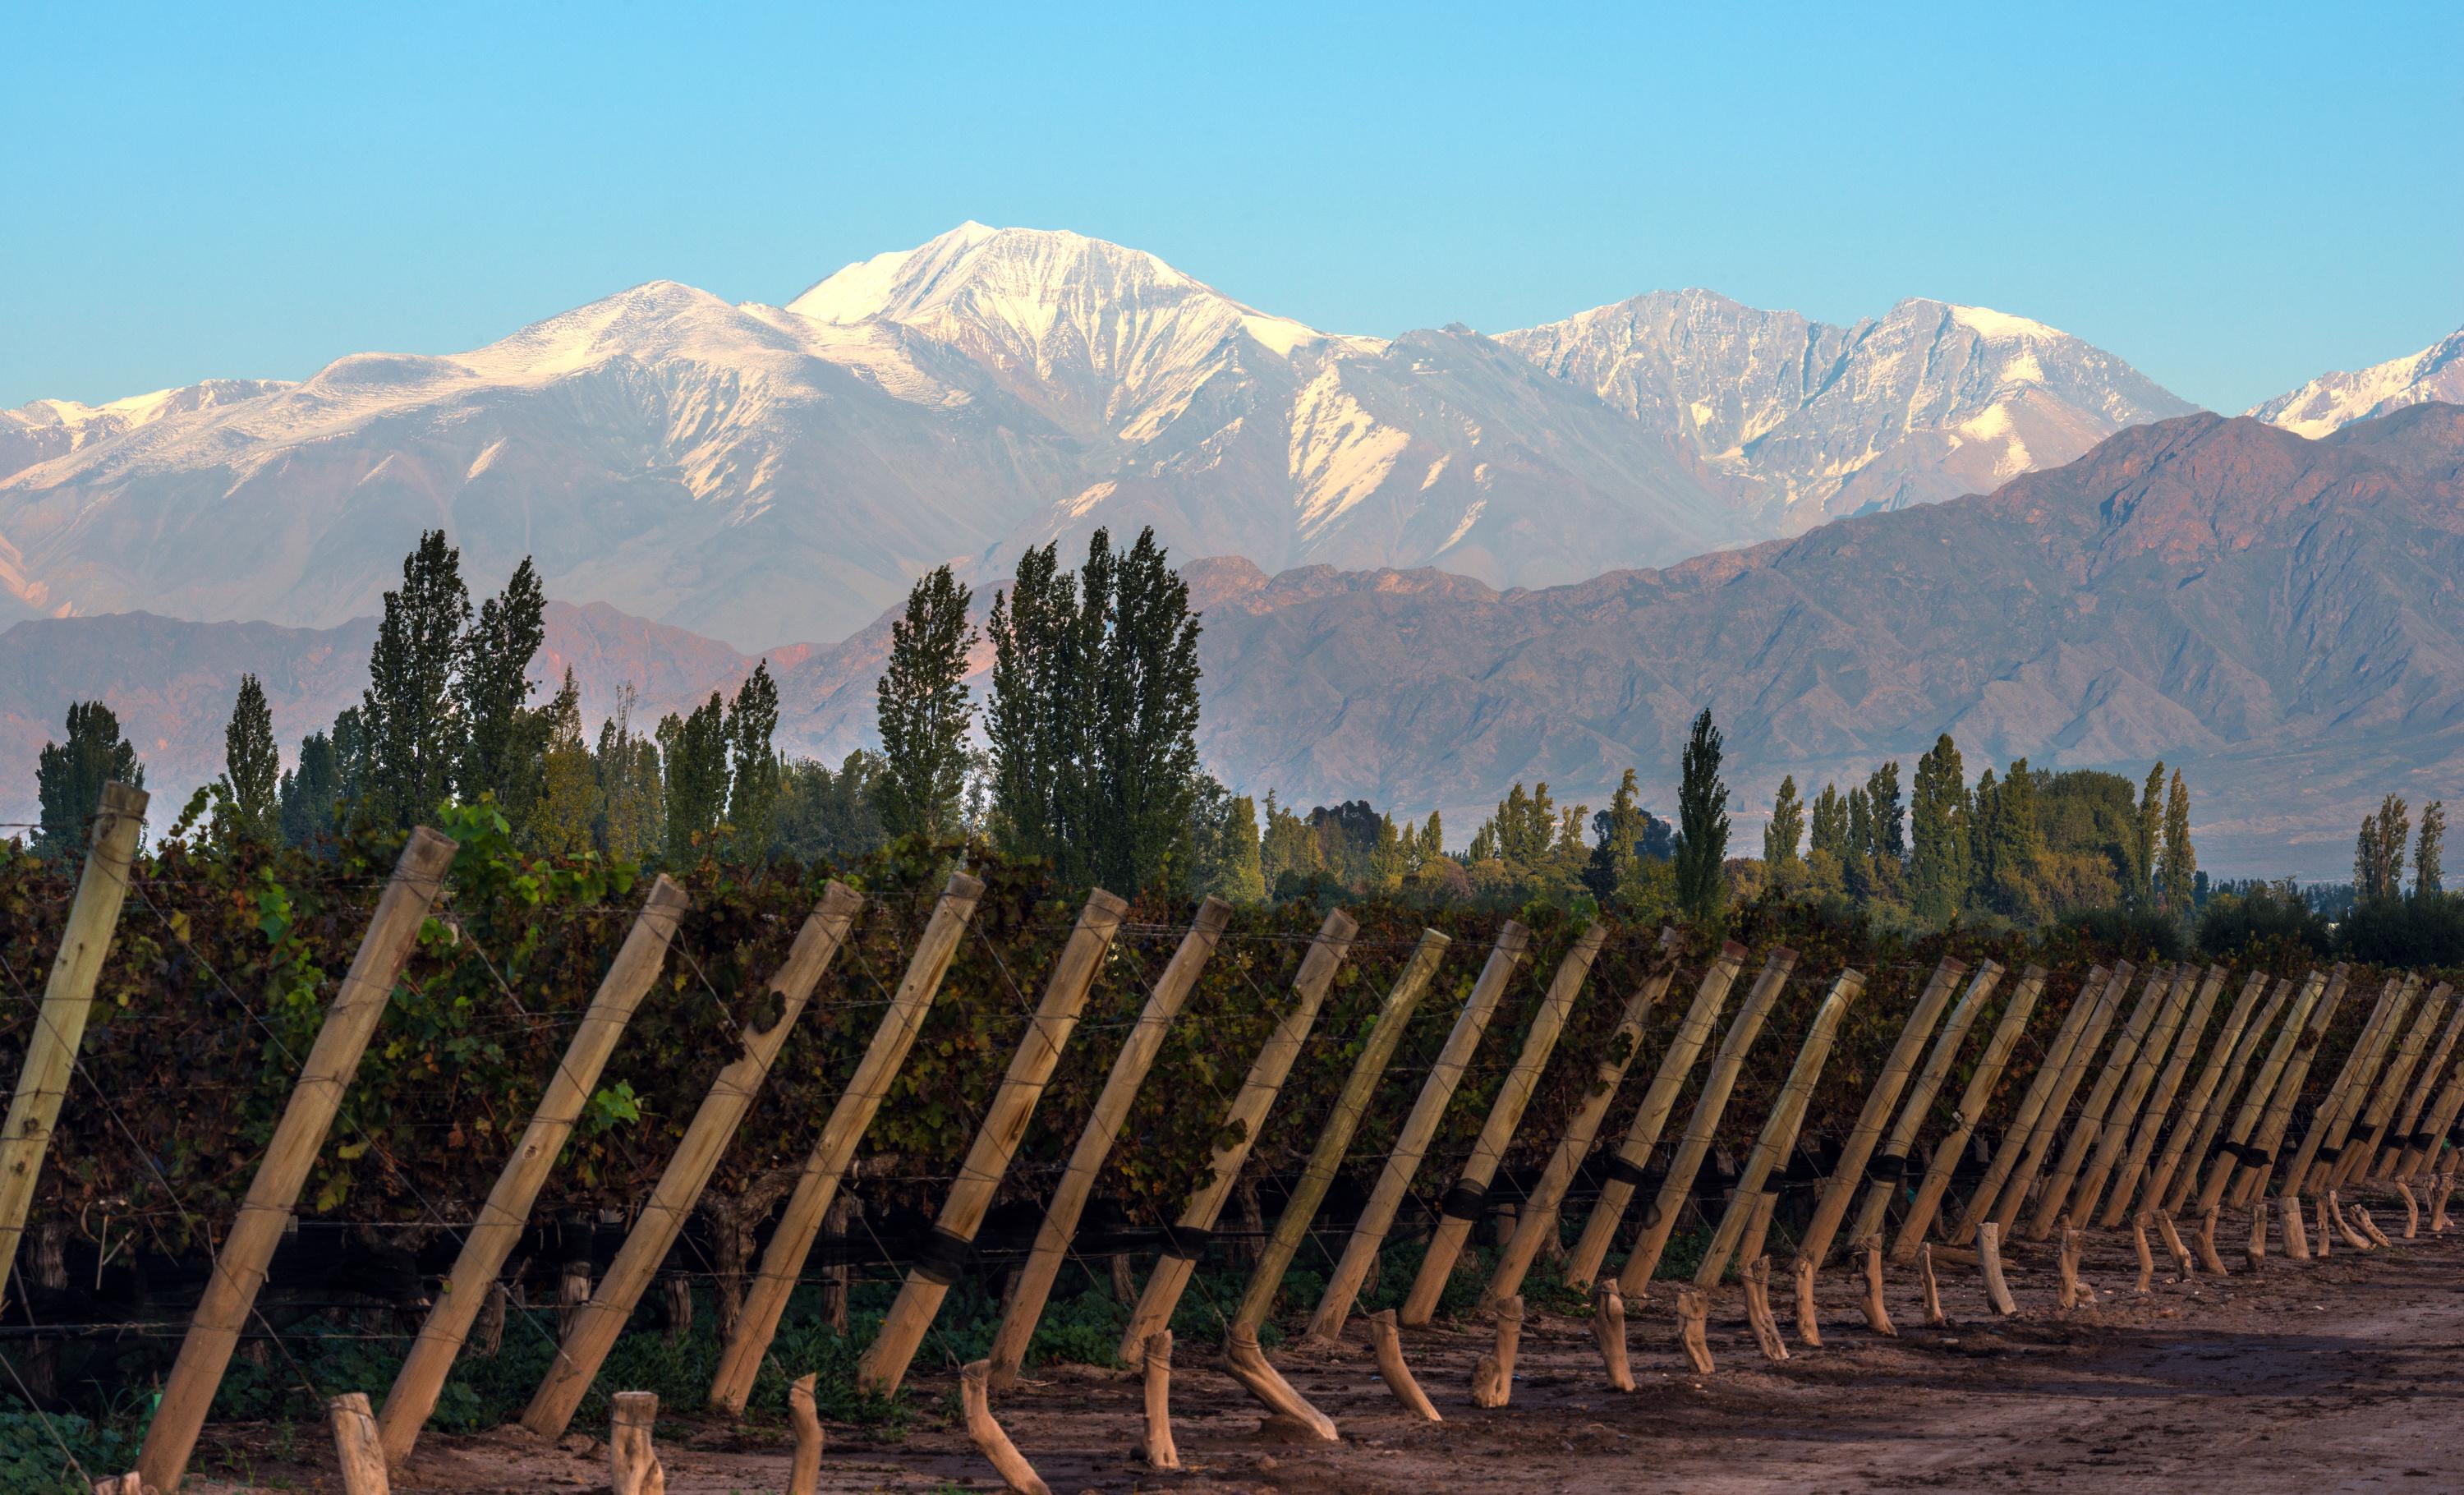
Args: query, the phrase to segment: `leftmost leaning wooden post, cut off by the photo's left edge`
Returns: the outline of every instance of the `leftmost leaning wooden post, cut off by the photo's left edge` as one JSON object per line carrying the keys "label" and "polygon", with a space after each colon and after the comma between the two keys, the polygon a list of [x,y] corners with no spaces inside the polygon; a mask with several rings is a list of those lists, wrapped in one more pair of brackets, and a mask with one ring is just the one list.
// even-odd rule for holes
{"label": "leftmost leaning wooden post, cut off by the photo's left edge", "polygon": [[86,1015],[94,1010],[94,983],[111,953],[111,931],[121,924],[128,897],[128,869],[138,857],[138,832],[145,830],[145,791],[106,783],[101,810],[94,813],[86,840],[86,869],[76,879],[69,924],[59,931],[52,978],[42,988],[42,1010],[25,1034],[25,1069],[17,1094],[0,1123],[0,1293],[17,1259],[34,1185],[42,1182],[42,1153],[59,1128],[59,1106],[69,1098],[76,1074],[76,1049],[86,1042]]}

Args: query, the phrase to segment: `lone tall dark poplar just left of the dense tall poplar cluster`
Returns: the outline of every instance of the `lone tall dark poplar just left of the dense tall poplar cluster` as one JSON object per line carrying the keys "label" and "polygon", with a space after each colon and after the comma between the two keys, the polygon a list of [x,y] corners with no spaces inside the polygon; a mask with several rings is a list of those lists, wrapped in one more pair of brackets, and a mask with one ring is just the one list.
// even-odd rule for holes
{"label": "lone tall dark poplar just left of the dense tall poplar cluster", "polygon": [[[951,835],[966,788],[966,653],[976,628],[971,594],[934,566],[907,591],[907,613],[890,626],[890,667],[875,690],[882,727],[882,823],[890,835]],[[670,803],[668,813],[675,813]]]}

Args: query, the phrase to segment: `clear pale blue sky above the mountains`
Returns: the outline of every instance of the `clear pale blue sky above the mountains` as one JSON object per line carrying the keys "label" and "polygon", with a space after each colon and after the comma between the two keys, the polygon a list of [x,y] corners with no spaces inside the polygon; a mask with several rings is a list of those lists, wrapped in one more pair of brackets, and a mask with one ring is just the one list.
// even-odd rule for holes
{"label": "clear pale blue sky above the mountains", "polygon": [[2220,409],[2464,323],[2454,2],[219,10],[10,20],[0,406],[779,303],[968,217],[1345,332],[1939,296]]}

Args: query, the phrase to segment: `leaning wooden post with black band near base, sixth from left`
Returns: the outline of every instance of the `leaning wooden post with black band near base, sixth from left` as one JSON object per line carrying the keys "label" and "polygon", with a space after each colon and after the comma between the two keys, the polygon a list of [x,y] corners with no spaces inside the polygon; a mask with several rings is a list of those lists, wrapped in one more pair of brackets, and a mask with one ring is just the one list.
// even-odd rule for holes
{"label": "leaning wooden post with black band near base, sixth from left", "polygon": [[1045,1084],[1060,1066],[1069,1034],[1077,1032],[1087,993],[1104,968],[1104,951],[1111,948],[1111,936],[1121,931],[1126,914],[1129,904],[1119,897],[1104,889],[1087,894],[1077,929],[1069,931],[1069,943],[1052,963],[1045,997],[1035,1005],[1035,1017],[1027,1022],[1025,1037],[1018,1039],[1018,1052],[1010,1054],[1010,1069],[1000,1076],[993,1103],[983,1108],[983,1126],[976,1128],[976,1140],[966,1148],[958,1182],[941,1199],[941,1217],[924,1244],[924,1261],[907,1271],[890,1315],[882,1318],[882,1332],[855,1362],[857,1384],[875,1396],[897,1392],[899,1382],[907,1379],[924,1330],[931,1328],[934,1315],[941,1313],[941,1298],[949,1298],[949,1288],[966,1268],[976,1231],[983,1229],[1000,1177],[1010,1170],[1020,1138],[1027,1135],[1027,1118],[1035,1116],[1035,1103],[1045,1096]]}

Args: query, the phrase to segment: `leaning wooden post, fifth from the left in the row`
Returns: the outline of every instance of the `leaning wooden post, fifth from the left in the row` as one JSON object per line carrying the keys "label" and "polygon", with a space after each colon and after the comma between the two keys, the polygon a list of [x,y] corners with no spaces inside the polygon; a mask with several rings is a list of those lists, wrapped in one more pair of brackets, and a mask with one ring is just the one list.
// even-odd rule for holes
{"label": "leaning wooden post, fifth from the left in the row", "polygon": [[880,1027],[872,1030],[865,1057],[848,1079],[848,1089],[830,1106],[830,1118],[823,1123],[813,1153],[803,1160],[779,1229],[761,1249],[761,1266],[744,1293],[744,1308],[727,1335],[727,1347],[719,1352],[719,1369],[710,1377],[710,1404],[719,1411],[732,1416],[744,1411],[744,1399],[752,1396],[754,1377],[761,1372],[761,1355],[769,1352],[771,1337],[779,1332],[779,1315],[786,1313],[796,1278],[803,1276],[803,1263],[813,1254],[813,1241],[838,1207],[838,1185],[848,1177],[855,1148],[872,1128],[882,1098],[890,1096],[890,1081],[907,1064],[917,1032],[924,1030],[924,1017],[941,993],[941,980],[949,975],[949,963],[958,953],[958,941],[966,936],[978,901],[983,901],[983,882],[966,872],[951,872],[939,901],[934,901],[931,919],[924,921],[914,956],[907,958],[907,973],[890,995]]}

